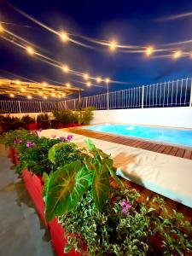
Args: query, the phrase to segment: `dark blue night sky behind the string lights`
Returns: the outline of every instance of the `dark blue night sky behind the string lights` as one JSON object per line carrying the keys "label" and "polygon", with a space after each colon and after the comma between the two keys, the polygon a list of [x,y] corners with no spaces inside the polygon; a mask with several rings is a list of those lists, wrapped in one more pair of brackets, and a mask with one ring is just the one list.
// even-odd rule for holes
{"label": "dark blue night sky behind the string lights", "polygon": [[[115,38],[120,44],[143,46],[152,44],[155,47],[158,44],[192,38],[192,15],[176,20],[160,20],[164,16],[191,12],[192,1],[13,0],[9,3],[55,30],[64,29],[67,32],[91,38],[106,40]],[[111,84],[110,90],[189,77],[192,73],[192,59],[189,57],[183,57],[177,61],[172,58],[153,59],[146,58],[143,54],[109,53],[108,49],[104,50],[104,48],[97,51],[72,43],[62,44],[53,33],[27,20],[5,1],[0,2],[0,20],[32,26],[26,28],[7,25],[6,28],[40,46],[45,55],[67,63],[69,67],[79,72],[87,72],[92,76],[110,77],[113,80],[128,83]],[[190,50],[190,45],[188,49]],[[23,49],[0,38],[0,76],[11,78],[13,76],[10,73],[39,82],[45,80],[49,83],[51,83],[49,79],[61,83],[77,79],[26,55]],[[82,79],[79,78],[79,80]],[[83,86],[84,94],[91,95],[105,91],[103,88],[86,88],[79,83],[73,84]]]}

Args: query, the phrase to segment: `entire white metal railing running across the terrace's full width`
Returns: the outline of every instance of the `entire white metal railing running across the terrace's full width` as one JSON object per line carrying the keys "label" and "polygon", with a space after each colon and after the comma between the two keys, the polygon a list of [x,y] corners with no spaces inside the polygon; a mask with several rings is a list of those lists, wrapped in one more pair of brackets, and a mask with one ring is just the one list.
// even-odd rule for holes
{"label": "entire white metal railing running across the terrace's full width", "polygon": [[192,79],[177,79],[158,84],[137,86],[125,90],[85,96],[61,102],[0,101],[0,109],[6,113],[49,112],[54,109],[95,107],[120,108],[166,108],[192,105]]}

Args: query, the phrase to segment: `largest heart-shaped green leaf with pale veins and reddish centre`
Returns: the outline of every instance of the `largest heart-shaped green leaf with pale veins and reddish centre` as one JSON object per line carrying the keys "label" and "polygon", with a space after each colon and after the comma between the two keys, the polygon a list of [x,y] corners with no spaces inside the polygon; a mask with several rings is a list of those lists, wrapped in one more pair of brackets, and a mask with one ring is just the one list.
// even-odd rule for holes
{"label": "largest heart-shaped green leaf with pale veins and reddish centre", "polygon": [[93,173],[85,169],[80,161],[75,161],[62,166],[52,174],[45,201],[47,221],[76,207],[84,192],[90,187]]}

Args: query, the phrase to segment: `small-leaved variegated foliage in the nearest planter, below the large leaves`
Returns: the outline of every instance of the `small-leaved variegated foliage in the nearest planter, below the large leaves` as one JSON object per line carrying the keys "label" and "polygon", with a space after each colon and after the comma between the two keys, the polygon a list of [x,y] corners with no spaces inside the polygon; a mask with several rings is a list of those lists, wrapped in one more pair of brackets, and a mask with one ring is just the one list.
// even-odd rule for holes
{"label": "small-leaved variegated foliage in the nearest planter, below the large leaves", "polygon": [[[183,255],[183,251],[187,255],[192,252],[191,239],[181,228],[189,232],[192,229],[188,222],[183,222],[182,215],[177,212],[169,215],[162,201],[154,199],[159,201],[156,207],[166,212],[166,217],[161,218],[154,213],[156,207],[138,204],[138,197],[134,189],[111,189],[110,199],[100,212],[91,191],[87,191],[73,212],[59,218],[67,236],[66,253],[71,247],[87,249],[89,255]],[[131,206],[127,214],[123,212],[122,202]]]}

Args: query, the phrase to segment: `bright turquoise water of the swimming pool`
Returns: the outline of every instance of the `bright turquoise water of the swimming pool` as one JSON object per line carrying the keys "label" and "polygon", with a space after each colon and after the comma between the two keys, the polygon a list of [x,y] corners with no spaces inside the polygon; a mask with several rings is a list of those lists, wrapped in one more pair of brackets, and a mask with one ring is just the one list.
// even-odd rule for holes
{"label": "bright turquoise water of the swimming pool", "polygon": [[192,147],[192,130],[186,129],[116,124],[90,125],[84,129]]}

